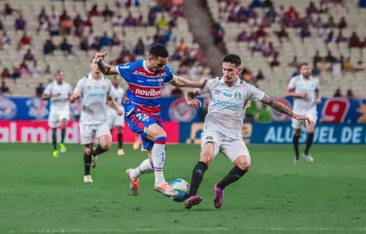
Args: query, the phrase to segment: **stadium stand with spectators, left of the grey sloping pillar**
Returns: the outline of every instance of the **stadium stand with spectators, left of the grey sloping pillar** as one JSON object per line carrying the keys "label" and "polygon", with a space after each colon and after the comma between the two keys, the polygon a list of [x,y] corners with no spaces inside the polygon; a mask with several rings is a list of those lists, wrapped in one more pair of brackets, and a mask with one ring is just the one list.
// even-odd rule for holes
{"label": "stadium stand with spectators, left of the grey sloping pillar", "polygon": [[[125,4],[125,6],[121,6]],[[111,63],[145,57],[152,43],[167,45],[170,66],[184,77],[211,77],[205,54],[184,18],[182,1],[1,1],[0,72],[8,89],[34,95],[56,70],[73,86],[91,56],[108,51]],[[13,78],[13,81],[12,81]],[[126,85],[123,83],[122,85]],[[171,87],[163,91],[169,95]]]}

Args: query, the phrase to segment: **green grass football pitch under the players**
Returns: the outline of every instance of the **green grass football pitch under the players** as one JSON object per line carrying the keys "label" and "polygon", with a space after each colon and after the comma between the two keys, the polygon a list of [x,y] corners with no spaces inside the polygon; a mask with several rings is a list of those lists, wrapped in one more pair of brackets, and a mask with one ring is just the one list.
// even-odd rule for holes
{"label": "green grass football pitch under the players", "polygon": [[[313,146],[313,164],[292,164],[292,146],[249,145],[252,168],[225,189],[213,185],[232,168],[218,155],[205,174],[202,203],[184,210],[154,192],[153,175],[128,196],[125,170],[145,153],[116,146],[83,183],[83,148],[51,156],[50,144],[1,144],[0,233],[366,233],[366,146]],[[199,146],[166,147],[165,176],[190,182]]]}

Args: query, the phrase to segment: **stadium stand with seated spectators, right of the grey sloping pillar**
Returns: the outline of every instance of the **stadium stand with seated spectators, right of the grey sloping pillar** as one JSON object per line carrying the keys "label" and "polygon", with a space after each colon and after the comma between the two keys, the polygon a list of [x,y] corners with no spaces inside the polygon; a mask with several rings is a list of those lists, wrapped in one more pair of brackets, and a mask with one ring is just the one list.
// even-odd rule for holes
{"label": "stadium stand with seated spectators, right of the grey sloping pillar", "polygon": [[337,88],[365,95],[366,12],[357,0],[213,0],[207,6],[228,52],[241,54],[252,72],[260,70],[256,82],[266,93],[283,95],[296,65],[308,62],[317,68],[323,95]]}

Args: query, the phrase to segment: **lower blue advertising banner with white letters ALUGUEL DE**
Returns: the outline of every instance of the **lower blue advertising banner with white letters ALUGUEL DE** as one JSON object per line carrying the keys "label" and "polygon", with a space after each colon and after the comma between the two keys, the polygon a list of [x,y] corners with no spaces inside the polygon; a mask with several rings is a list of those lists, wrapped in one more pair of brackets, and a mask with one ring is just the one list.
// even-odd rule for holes
{"label": "lower blue advertising banner with white letters ALUGUEL DE", "polygon": [[[181,143],[200,143],[203,123],[180,123]],[[242,135],[246,143],[292,143],[291,123],[245,123]],[[306,132],[300,142],[305,143]],[[318,144],[365,144],[366,125],[341,125],[319,123],[315,127],[314,143]]]}

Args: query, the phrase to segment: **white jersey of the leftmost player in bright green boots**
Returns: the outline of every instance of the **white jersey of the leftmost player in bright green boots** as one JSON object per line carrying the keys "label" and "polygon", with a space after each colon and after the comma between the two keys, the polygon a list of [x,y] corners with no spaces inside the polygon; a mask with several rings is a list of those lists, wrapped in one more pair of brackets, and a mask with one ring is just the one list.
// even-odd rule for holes
{"label": "white jersey of the leftmost player in bright green boots", "polygon": [[57,95],[54,98],[50,98],[51,101],[51,111],[58,110],[69,110],[70,105],[67,102],[70,94],[72,93],[71,85],[65,81],[61,84],[58,84],[57,81],[51,82],[51,84],[47,85],[45,91],[43,91],[45,95]]}

